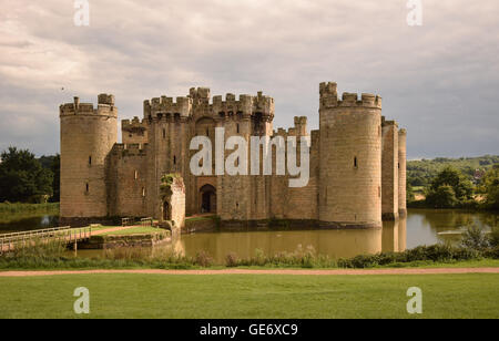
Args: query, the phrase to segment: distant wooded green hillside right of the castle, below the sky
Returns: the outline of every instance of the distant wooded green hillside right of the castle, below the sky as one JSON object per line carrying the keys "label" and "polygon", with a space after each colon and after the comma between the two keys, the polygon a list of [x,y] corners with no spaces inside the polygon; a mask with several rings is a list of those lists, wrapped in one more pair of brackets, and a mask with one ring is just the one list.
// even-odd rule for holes
{"label": "distant wooded green hillside right of the castle, below the sky", "polygon": [[477,175],[477,169],[485,172],[496,164],[499,164],[499,155],[460,158],[437,157],[434,159],[424,158],[420,161],[408,161],[407,182],[413,187],[426,187],[446,166],[459,169],[462,174],[468,176],[470,180],[473,180]]}

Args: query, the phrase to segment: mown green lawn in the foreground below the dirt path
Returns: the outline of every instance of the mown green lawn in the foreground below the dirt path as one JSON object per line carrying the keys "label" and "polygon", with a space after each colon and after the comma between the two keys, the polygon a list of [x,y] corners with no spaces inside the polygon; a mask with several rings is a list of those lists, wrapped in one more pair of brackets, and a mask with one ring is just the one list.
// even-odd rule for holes
{"label": "mown green lawn in the foreground below the dirt path", "polygon": [[[64,275],[0,278],[0,318],[499,318],[499,275]],[[409,287],[422,314],[406,311]]]}

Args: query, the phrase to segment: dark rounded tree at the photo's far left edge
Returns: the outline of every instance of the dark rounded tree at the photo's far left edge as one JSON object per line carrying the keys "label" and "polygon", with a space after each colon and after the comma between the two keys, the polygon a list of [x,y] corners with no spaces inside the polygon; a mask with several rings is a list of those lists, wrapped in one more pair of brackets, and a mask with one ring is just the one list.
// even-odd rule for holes
{"label": "dark rounded tree at the photo's far left edge", "polygon": [[9,147],[0,164],[0,202],[40,202],[52,195],[53,175],[28,149]]}

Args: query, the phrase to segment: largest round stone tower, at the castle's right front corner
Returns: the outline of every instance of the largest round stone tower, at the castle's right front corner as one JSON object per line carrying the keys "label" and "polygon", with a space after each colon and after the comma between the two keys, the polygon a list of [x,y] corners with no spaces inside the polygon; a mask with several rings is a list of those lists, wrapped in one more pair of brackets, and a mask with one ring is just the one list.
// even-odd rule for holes
{"label": "largest round stone tower, at the castle's right front corner", "polygon": [[320,84],[319,221],[324,227],[381,226],[381,99]]}

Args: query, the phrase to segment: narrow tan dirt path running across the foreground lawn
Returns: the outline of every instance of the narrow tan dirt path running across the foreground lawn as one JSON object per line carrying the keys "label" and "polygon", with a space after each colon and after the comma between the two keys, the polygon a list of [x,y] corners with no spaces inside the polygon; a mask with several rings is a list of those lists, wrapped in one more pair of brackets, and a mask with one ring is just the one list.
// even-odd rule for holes
{"label": "narrow tan dirt path running across the foreground lawn", "polygon": [[337,270],[80,270],[80,271],[6,271],[0,277],[91,275],[91,273],[143,273],[143,275],[295,275],[295,276],[337,276],[337,275],[450,275],[450,273],[499,273],[499,268],[435,268],[435,269],[337,269]]}

